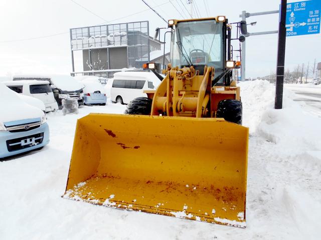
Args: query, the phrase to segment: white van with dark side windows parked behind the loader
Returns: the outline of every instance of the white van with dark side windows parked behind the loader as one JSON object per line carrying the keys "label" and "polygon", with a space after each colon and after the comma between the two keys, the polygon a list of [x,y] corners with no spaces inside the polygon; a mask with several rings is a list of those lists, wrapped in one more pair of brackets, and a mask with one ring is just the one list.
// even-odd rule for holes
{"label": "white van with dark side windows parked behind the loader", "polygon": [[144,96],[144,90],[154,90],[161,80],[147,71],[121,71],[114,73],[110,88],[110,99],[118,103],[129,103],[132,99]]}

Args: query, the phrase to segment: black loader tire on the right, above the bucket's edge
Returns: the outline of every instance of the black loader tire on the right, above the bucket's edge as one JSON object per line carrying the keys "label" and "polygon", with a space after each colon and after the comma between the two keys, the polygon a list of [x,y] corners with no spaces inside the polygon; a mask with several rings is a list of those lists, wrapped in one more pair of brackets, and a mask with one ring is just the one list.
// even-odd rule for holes
{"label": "black loader tire on the right, above the bucket's edge", "polygon": [[216,117],[242,125],[242,109],[242,102],[239,100],[221,100],[217,106]]}

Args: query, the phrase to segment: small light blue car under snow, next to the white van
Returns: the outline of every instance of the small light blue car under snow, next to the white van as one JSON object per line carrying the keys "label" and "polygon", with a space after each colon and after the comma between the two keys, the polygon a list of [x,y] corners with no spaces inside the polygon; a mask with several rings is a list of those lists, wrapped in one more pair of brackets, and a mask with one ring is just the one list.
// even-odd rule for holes
{"label": "small light blue car under snow, next to the white van", "polygon": [[100,83],[86,79],[82,82],[85,84],[85,87],[83,89],[84,104],[106,105],[106,93]]}

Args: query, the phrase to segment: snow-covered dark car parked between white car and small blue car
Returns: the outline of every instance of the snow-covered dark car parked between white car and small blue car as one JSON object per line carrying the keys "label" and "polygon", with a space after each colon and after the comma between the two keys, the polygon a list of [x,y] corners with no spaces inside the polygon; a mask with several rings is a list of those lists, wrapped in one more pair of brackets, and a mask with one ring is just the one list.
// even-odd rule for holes
{"label": "snow-covered dark car parked between white car and small blue car", "polygon": [[61,100],[67,98],[76,98],[79,105],[84,104],[82,90],[84,85],[70,75],[20,74],[15,75],[13,80],[47,80],[59,106],[61,106]]}

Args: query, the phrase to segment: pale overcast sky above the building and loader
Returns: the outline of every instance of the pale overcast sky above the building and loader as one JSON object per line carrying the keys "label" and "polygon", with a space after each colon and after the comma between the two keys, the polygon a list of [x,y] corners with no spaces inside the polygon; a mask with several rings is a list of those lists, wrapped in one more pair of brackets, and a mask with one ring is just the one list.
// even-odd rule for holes
{"label": "pale overcast sky above the building and loader", "polygon": [[[166,23],[153,11],[148,10],[141,0],[74,1],[93,13],[72,0],[1,0],[0,75],[31,72],[70,73],[72,68],[69,29],[73,27],[101,24],[105,20],[108,23],[148,20],[149,32],[153,35],[156,27],[166,26]],[[190,9],[187,0],[145,1],[151,6],[162,4],[155,7],[155,10],[165,19],[181,19],[182,15],[186,17],[187,11],[182,3]],[[293,1],[288,0],[288,2]],[[235,22],[240,20],[239,14],[242,10],[247,12],[277,10],[280,0],[194,0],[194,2],[202,17],[207,16],[204,4],[206,3],[211,16],[226,15],[230,22]],[[252,16],[247,18],[247,21],[248,23],[257,21],[256,25],[248,26],[249,32],[278,29],[278,14]],[[48,37],[20,41],[41,36]],[[248,37],[247,77],[264,76],[275,71],[276,54],[277,34]],[[307,64],[308,61],[311,65],[314,59],[317,62],[321,61],[320,34],[287,37],[285,68],[292,70],[297,64]]]}

